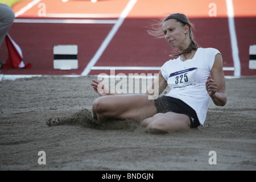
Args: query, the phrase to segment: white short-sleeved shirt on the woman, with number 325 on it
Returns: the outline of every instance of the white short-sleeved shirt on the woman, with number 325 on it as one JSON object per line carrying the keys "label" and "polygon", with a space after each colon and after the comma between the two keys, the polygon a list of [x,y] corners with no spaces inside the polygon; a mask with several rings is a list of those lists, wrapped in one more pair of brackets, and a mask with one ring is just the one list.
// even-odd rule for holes
{"label": "white short-sleeved shirt on the woman, with number 325 on it", "polygon": [[220,52],[214,48],[198,48],[193,59],[181,61],[178,57],[161,67],[162,75],[171,87],[166,96],[178,98],[191,106],[201,125],[204,125],[210,102],[205,82],[210,76],[217,53]]}

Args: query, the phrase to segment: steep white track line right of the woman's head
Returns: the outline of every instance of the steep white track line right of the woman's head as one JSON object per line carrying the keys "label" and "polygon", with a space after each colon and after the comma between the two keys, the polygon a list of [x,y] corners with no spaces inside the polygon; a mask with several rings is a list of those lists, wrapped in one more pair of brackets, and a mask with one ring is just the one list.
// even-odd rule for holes
{"label": "steep white track line right of the woman's head", "polygon": [[230,34],[230,41],[231,41],[231,47],[232,47],[232,56],[234,61],[234,76],[241,76],[241,66],[240,66],[240,59],[239,59],[239,50],[237,46],[236,27],[234,23],[233,1],[226,0],[226,7],[228,10],[229,34]]}

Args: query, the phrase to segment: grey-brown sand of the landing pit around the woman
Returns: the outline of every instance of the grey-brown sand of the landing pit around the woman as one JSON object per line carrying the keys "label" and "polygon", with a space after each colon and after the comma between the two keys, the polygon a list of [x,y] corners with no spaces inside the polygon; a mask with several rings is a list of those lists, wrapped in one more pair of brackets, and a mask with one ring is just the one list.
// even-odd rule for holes
{"label": "grey-brown sand of the landing pit around the woman", "polygon": [[[226,79],[204,127],[160,133],[134,121],[98,123],[93,76],[0,82],[1,170],[255,170],[256,77]],[[39,151],[46,164],[39,164]],[[209,164],[210,151],[216,164]]]}

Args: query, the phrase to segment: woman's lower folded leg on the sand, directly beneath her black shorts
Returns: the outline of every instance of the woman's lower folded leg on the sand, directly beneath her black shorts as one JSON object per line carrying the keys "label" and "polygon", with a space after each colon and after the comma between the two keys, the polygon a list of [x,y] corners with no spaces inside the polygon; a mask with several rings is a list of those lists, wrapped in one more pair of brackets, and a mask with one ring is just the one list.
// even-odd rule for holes
{"label": "woman's lower folded leg on the sand, directly beneath her black shorts", "polygon": [[158,113],[153,117],[144,119],[142,127],[163,131],[182,131],[190,129],[190,119],[185,114]]}

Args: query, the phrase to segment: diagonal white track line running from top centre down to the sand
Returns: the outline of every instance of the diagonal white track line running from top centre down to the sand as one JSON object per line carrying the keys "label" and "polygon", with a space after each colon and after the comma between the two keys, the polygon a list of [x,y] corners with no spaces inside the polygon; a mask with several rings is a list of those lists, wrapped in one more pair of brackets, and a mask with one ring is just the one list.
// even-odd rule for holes
{"label": "diagonal white track line running from top centre down to the sand", "polygon": [[112,30],[110,30],[108,36],[106,36],[104,42],[101,44],[96,54],[93,56],[84,71],[81,73],[81,76],[88,75],[88,73],[90,72],[90,68],[92,68],[97,63],[98,59],[100,59],[102,53],[105,51],[106,47],[108,47],[110,41],[113,39],[115,33],[118,31],[119,27],[122,25],[126,16],[130,13],[131,9],[133,9],[133,6],[136,2],[137,0],[130,0],[129,3],[126,5],[125,9],[122,11],[120,17],[118,18],[117,23],[114,24]]}

